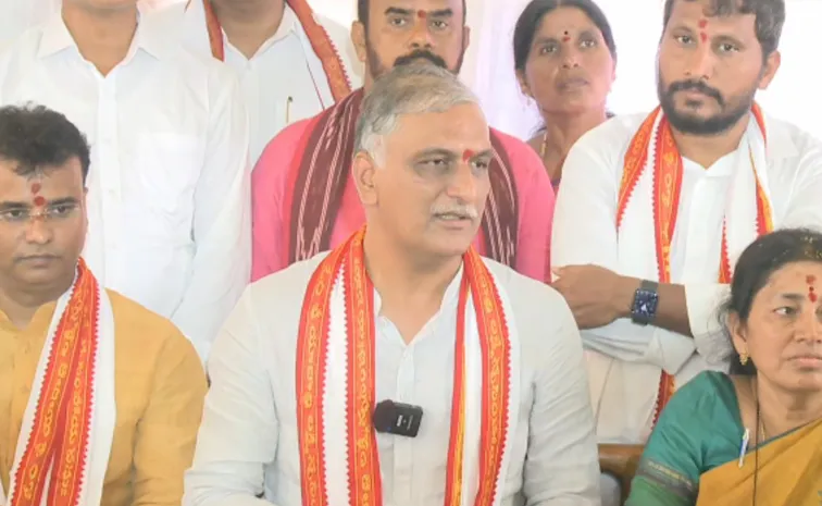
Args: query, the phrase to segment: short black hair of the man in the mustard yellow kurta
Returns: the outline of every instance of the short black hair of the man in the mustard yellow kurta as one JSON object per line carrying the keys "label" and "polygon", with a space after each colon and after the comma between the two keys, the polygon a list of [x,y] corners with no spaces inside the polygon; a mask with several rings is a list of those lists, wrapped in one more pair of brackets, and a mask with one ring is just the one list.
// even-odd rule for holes
{"label": "short black hair of the man in the mustard yellow kurta", "polygon": [[75,157],[85,184],[91,164],[88,141],[65,115],[30,103],[0,108],[0,160],[16,163],[16,174],[32,176]]}

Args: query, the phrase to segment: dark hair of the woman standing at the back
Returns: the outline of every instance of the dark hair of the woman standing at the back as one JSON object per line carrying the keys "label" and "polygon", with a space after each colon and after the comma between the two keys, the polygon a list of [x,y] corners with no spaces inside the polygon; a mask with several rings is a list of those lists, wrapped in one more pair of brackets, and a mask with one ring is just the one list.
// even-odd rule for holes
{"label": "dark hair of the woman standing at the back", "polygon": [[514,69],[524,71],[531,55],[531,47],[534,45],[539,26],[545,16],[561,7],[576,8],[585,13],[602,34],[602,39],[611,52],[611,58],[616,61],[616,42],[613,40],[613,30],[608,23],[605,12],[593,0],[533,0],[520,14],[514,28],[513,49]]}

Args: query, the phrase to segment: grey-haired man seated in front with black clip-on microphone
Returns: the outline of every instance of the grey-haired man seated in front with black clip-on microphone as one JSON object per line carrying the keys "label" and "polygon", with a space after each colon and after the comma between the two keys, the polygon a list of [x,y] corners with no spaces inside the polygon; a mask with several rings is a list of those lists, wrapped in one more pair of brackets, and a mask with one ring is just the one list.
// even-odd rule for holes
{"label": "grey-haired man seated in front with black clip-on microphone", "polygon": [[[476,98],[446,70],[401,66],[358,133],[368,224],[240,299],[184,505],[598,505],[571,312],[470,249],[493,153]],[[377,433],[384,400],[419,407],[419,433]]]}

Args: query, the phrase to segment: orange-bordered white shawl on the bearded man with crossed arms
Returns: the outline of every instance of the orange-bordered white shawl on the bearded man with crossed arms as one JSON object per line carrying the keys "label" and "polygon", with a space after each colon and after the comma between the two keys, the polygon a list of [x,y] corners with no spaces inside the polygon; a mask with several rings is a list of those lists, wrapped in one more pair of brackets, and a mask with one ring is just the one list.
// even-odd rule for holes
{"label": "orange-bordered white shawl on the bearded man with crossed arms", "polygon": [[[718,281],[731,283],[733,266],[760,235],[773,231],[768,186],[767,129],[762,112],[753,106],[743,136],[725,206],[722,254],[717,259]],[[668,119],[657,108],[643,123],[625,155],[616,205],[620,262],[625,272],[672,283],[671,245],[676,230],[682,192],[683,161]],[[693,202],[698,206],[699,202]],[[652,233],[647,226],[652,217]],[[706,237],[718,240],[719,237]],[[683,341],[683,346],[694,343]],[[693,353],[693,350],[692,350]],[[653,423],[673,395],[673,377],[661,372]]]}

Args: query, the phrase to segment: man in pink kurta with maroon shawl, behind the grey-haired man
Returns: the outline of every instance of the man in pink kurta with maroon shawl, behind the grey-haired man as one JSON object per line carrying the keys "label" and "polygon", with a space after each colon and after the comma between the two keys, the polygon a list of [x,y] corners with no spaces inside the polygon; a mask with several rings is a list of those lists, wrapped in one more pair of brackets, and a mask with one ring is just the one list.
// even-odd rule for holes
{"label": "man in pink kurta with maroon shawl, behind the grey-haired man", "polygon": [[[259,280],[337,246],[364,220],[350,165],[363,97],[391,66],[425,62],[459,73],[470,29],[460,0],[361,0],[352,28],[364,88],[319,116],[291,125],[252,175],[253,267]],[[475,245],[519,272],[545,280],[553,190],[539,157],[491,129],[488,210]]]}

